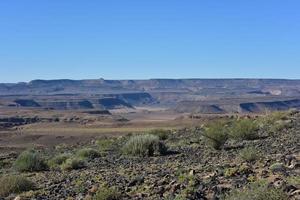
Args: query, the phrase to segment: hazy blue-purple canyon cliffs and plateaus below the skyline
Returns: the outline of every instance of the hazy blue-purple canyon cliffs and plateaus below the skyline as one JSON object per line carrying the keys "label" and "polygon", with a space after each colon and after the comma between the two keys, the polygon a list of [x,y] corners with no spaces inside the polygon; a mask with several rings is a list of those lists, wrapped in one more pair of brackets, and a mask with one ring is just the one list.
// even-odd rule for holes
{"label": "hazy blue-purple canyon cliffs and plateaus below the skyline", "polygon": [[150,79],[33,80],[0,84],[2,107],[134,109],[244,113],[300,108],[300,80]]}

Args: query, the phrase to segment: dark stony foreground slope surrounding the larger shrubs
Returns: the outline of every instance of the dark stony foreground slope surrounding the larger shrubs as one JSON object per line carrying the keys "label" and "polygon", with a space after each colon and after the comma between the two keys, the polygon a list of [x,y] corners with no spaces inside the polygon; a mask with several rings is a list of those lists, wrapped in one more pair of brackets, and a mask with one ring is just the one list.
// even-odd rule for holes
{"label": "dark stony foreground slope surrounding the larger shrubs", "polygon": [[[300,114],[288,113],[264,125],[269,122],[268,128],[257,130],[258,137],[229,138],[220,148],[210,145],[205,126],[172,130],[160,137],[168,147],[164,155],[124,154],[130,135],[39,148],[48,166],[29,172],[16,169],[19,153],[5,152],[0,157],[2,180],[22,176],[34,186],[2,192],[2,199],[246,199],[239,194],[251,193],[245,188],[255,184],[280,191],[276,199],[300,199]],[[85,156],[78,166],[49,164],[57,155],[76,157],[82,148],[99,154]],[[6,183],[0,184],[1,194]]]}

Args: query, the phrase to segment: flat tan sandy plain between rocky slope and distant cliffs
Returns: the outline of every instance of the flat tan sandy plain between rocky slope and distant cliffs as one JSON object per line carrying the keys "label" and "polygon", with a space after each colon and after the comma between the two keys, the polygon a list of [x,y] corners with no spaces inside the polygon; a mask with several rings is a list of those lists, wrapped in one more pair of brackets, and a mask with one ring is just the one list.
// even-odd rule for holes
{"label": "flat tan sandy plain between rocky slope and distant cliffs", "polygon": [[[111,116],[83,114],[82,111],[6,110],[1,116],[76,117],[76,121],[38,122],[0,130],[0,151],[24,149],[30,146],[55,146],[90,142],[105,136],[140,133],[151,129],[177,129],[195,126],[199,119],[163,109],[138,108],[126,112],[116,110]],[[124,121],[120,119],[126,119]]]}

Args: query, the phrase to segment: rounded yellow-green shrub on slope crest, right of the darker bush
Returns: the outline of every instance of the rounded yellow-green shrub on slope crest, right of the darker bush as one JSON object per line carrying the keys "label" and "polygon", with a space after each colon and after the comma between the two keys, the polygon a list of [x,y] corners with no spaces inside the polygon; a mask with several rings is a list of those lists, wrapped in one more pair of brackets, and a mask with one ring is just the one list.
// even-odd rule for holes
{"label": "rounded yellow-green shrub on slope crest, right of the darker bush", "polygon": [[229,136],[236,140],[254,140],[259,138],[258,123],[252,119],[240,119],[232,123]]}

